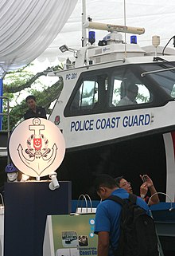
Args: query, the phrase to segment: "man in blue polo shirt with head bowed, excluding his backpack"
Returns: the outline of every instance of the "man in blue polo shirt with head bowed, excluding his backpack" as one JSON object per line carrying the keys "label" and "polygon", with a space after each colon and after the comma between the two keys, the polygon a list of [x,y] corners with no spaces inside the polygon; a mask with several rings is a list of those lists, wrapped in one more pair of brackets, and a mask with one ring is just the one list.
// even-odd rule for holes
{"label": "man in blue polo shirt with head bowed, excluding his backpack", "polygon": [[[98,256],[113,256],[113,250],[118,246],[120,234],[121,205],[112,200],[105,200],[110,195],[118,195],[121,199],[127,199],[129,193],[116,185],[115,179],[110,175],[99,175],[95,179],[95,190],[104,200],[99,203],[95,215],[95,234],[98,234]],[[137,205],[149,214],[149,207],[140,198]]]}

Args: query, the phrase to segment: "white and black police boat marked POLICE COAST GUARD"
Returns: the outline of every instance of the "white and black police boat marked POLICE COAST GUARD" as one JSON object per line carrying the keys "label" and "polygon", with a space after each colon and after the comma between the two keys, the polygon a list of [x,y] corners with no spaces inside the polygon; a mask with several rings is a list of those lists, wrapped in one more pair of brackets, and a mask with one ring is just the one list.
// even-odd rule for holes
{"label": "white and black police boat marked POLICE COAST GUARD", "polygon": [[[98,45],[92,29],[108,31]],[[49,73],[63,81],[49,120],[64,135],[66,156],[58,175],[72,180],[75,199],[91,194],[91,179],[101,172],[125,175],[135,193],[138,175],[147,173],[157,191],[174,199],[175,51],[161,47],[158,36],[153,45],[140,47],[135,35],[144,32],[83,18],[82,47],[60,47],[73,51],[75,61]],[[122,33],[131,33],[130,44]],[[130,85],[138,88],[134,104],[120,104]]]}

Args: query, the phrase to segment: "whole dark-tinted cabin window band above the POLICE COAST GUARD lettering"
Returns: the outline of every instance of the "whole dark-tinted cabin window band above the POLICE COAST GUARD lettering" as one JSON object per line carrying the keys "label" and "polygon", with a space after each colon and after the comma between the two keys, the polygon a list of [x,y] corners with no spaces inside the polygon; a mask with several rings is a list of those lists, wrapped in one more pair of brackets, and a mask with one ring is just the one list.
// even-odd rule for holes
{"label": "whole dark-tinted cabin window band above the POLICE COAST GUARD lettering", "polygon": [[[175,73],[142,73],[163,69],[155,64],[122,65],[82,73],[65,108],[65,116],[121,109],[149,108],[175,97]],[[167,93],[165,93],[167,92]]]}

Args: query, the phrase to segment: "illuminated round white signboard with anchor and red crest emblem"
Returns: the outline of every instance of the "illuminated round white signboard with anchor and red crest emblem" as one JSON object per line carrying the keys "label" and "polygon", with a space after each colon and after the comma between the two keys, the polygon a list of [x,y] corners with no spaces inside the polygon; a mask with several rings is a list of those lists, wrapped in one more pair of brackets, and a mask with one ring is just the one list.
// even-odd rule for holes
{"label": "illuminated round white signboard with anchor and red crest emblem", "polygon": [[49,175],[64,159],[64,136],[51,121],[30,118],[14,128],[9,153],[14,165],[25,175]]}

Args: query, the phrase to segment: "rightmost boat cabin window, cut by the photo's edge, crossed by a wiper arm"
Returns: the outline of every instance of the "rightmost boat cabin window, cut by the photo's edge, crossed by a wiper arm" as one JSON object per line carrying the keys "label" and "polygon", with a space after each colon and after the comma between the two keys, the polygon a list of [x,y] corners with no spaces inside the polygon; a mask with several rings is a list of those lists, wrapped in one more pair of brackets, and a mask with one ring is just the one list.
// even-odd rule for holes
{"label": "rightmost boat cabin window, cut by the photo's edge, crossed by a wiper arm", "polygon": [[169,69],[175,66],[174,62],[171,63],[157,63],[154,65],[142,65],[142,69],[146,72],[157,70],[157,73],[147,74],[152,81],[155,81],[157,85],[161,86],[169,96],[175,98],[175,70],[167,70],[164,72],[158,72],[158,70]]}

